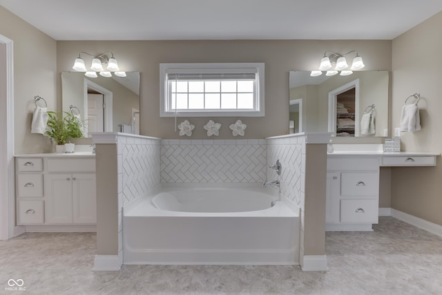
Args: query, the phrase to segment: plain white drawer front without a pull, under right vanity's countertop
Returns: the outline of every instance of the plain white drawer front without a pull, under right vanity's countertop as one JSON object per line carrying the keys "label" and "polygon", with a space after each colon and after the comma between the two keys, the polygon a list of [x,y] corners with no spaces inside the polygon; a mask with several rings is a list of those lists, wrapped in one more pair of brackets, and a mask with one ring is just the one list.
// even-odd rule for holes
{"label": "plain white drawer front without a pull, under right vanity's countertop", "polygon": [[380,157],[349,158],[327,156],[327,171],[377,171]]}

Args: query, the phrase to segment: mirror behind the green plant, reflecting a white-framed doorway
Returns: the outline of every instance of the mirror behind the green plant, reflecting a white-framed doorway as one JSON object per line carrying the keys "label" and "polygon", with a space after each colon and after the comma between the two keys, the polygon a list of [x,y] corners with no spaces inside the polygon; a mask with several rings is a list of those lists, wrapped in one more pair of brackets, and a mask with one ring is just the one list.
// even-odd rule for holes
{"label": "mirror behind the green plant, reflecting a white-framed doorway", "polygon": [[126,77],[86,77],[61,73],[63,111],[84,121],[85,136],[95,132],[140,134],[140,72]]}

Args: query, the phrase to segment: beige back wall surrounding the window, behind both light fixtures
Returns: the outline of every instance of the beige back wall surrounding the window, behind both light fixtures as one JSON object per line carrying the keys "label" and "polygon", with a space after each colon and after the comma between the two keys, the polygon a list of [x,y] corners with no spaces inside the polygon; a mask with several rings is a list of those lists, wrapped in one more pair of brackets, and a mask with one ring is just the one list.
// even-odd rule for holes
{"label": "beige back wall surrounding the window, behind both light fixtures", "polygon": [[[160,117],[160,63],[265,62],[265,117],[240,118],[247,124],[244,138],[264,138],[288,133],[289,70],[316,68],[325,50],[352,49],[363,56],[367,70],[390,70],[391,41],[57,41],[57,72],[72,70],[80,51],[113,51],[122,70],[141,72],[141,134],[177,139],[174,119]],[[202,126],[209,118],[178,122],[185,119],[195,125],[191,139],[207,138]],[[233,139],[228,126],[237,119],[215,118],[222,124],[218,138]]]}

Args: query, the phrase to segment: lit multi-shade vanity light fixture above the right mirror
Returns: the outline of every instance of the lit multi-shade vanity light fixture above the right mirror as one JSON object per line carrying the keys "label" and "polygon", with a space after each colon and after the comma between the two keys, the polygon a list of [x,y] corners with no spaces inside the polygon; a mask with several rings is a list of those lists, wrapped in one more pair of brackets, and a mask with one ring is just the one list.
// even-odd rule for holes
{"label": "lit multi-shade vanity light fixture above the right mirror", "polygon": [[[345,56],[349,55],[350,53],[356,53],[356,57],[354,57],[353,59],[350,70],[347,70],[348,64]],[[333,70],[332,64],[335,64]],[[358,52],[356,50],[349,51],[348,53],[344,53],[342,55],[340,53],[334,53],[327,50],[324,53],[324,57],[320,59],[319,70],[312,70],[310,75],[312,77],[320,76],[322,75],[323,70],[327,70],[327,73],[325,74],[327,76],[336,75],[339,71],[341,76],[346,76],[352,75],[353,70],[361,70],[362,68],[364,68],[364,66],[365,64],[362,60],[362,57],[358,55]]]}

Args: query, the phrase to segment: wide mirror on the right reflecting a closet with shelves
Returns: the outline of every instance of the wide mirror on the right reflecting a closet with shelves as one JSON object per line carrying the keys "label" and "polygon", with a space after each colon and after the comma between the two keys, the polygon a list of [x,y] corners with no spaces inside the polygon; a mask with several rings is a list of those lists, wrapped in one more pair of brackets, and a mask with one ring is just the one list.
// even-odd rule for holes
{"label": "wide mirror on the right reflecting a closet with shelves", "polygon": [[[388,71],[355,71],[347,76],[324,73],[317,77],[310,73],[289,73],[290,132],[294,126],[294,132],[332,132],[338,137],[387,136]],[[293,104],[300,105],[300,111]],[[365,113],[369,115],[363,117]],[[373,118],[369,134],[367,118]]]}

